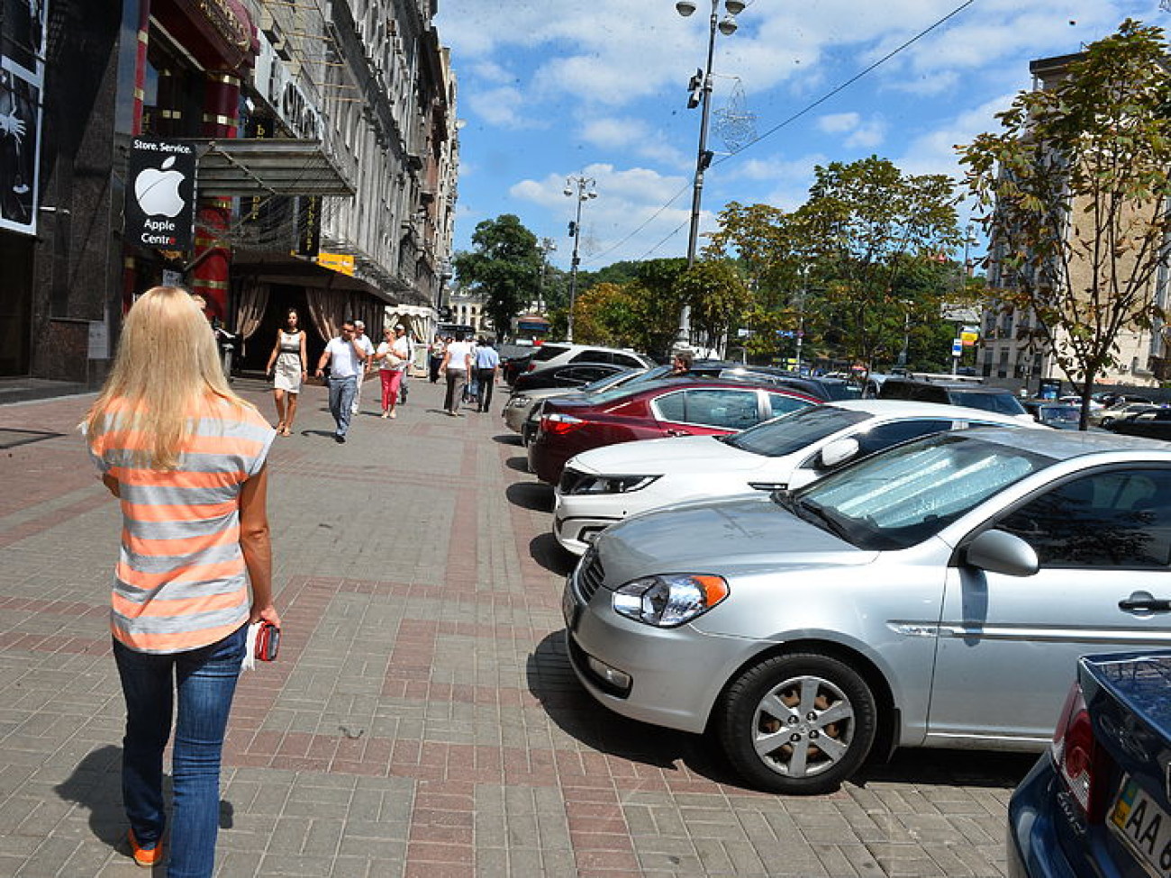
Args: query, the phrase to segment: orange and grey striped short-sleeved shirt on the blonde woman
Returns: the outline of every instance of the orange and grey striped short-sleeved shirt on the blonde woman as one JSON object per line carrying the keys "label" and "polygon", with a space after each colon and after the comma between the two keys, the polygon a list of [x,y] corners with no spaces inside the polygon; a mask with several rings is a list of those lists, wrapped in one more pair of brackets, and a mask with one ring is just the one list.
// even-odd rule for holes
{"label": "orange and grey striped short-sleeved shirt on the blonde woman", "polygon": [[138,652],[194,650],[248,620],[240,549],[240,488],[260,472],[276,431],[251,406],[210,399],[191,413],[174,469],[133,462],[142,437],[114,426],[91,441],[97,468],[117,479],[122,549],[110,626]]}

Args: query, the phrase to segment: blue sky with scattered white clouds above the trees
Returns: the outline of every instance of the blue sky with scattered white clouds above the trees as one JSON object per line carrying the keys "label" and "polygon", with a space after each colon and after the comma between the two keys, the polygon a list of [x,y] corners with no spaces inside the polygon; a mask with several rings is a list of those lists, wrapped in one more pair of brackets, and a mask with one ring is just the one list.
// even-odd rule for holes
{"label": "blue sky with scattered white clouds above the trees", "polygon": [[[576,203],[563,188],[586,176],[598,194],[583,207],[583,269],[686,254],[700,121],[687,80],[711,12],[697,6],[684,19],[674,0],[439,0],[464,123],[457,249],[480,220],[515,213],[568,268]],[[721,110],[765,135],[961,6],[767,137],[737,149],[721,138]],[[958,178],[954,144],[994,130],[1030,87],[1030,60],[1077,52],[1128,16],[1171,26],[1159,0],[749,0],[739,29],[717,36],[700,229],[732,200],[795,207],[829,162],[878,155]]]}

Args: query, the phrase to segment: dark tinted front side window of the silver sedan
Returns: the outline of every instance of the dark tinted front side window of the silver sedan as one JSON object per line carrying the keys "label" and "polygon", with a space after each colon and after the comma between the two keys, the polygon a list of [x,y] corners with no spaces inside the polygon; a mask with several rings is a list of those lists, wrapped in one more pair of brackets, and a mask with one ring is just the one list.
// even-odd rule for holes
{"label": "dark tinted front side window of the silver sedan", "polygon": [[1042,567],[1165,568],[1171,471],[1124,469],[1064,482],[1000,520]]}

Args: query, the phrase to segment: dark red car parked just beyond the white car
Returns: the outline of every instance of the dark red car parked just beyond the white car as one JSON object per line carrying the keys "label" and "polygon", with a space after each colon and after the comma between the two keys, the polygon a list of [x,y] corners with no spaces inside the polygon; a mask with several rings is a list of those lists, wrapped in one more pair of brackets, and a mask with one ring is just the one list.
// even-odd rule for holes
{"label": "dark red car parked just beyond the white car", "polygon": [[545,402],[528,468],[556,485],[566,461],[603,445],[670,435],[724,435],[821,400],[796,390],[742,380],[670,378],[637,387]]}

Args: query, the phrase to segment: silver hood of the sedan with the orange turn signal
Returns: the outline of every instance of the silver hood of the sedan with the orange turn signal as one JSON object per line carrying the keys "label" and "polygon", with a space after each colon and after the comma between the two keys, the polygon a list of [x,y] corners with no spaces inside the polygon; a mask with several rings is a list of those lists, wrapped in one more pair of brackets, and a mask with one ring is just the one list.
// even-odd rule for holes
{"label": "silver hood of the sedan with the orange turn signal", "polygon": [[796,517],[768,496],[632,515],[607,528],[597,548],[611,583],[662,572],[728,576],[780,567],[868,564],[878,556]]}

